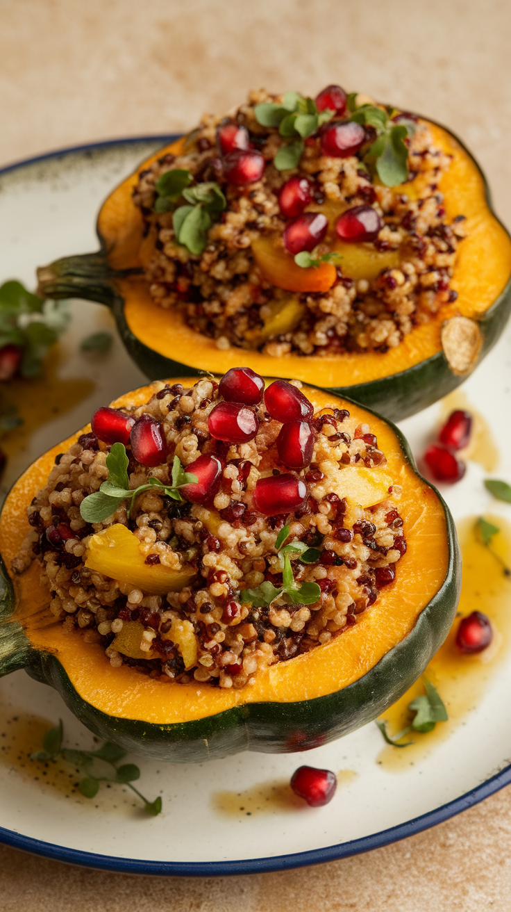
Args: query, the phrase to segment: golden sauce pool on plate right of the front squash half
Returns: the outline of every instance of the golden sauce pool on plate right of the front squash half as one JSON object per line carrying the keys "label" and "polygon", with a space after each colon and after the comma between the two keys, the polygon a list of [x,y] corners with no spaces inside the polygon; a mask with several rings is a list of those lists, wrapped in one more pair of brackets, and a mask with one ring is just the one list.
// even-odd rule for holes
{"label": "golden sauce pool on plate right of the front squash half", "polygon": [[[499,555],[506,566],[511,565],[511,525],[502,516],[485,513],[485,519],[498,526],[499,532],[492,539],[492,550]],[[462,593],[455,623],[428,667],[424,677],[429,679],[445,702],[449,719],[437,722],[433,731],[422,734],[410,731],[403,741],[414,741],[406,748],[387,745],[378,756],[378,763],[384,769],[398,772],[422,760],[435,744],[444,741],[454,731],[466,713],[475,709],[485,688],[506,658],[511,644],[511,577],[506,576],[503,566],[490,550],[482,544],[476,532],[477,517],[473,516],[458,524],[458,537],[463,556]],[[461,616],[481,611],[489,617],[494,637],[490,646],[475,655],[464,655],[455,645],[456,631]],[[382,716],[387,723],[387,732],[393,737],[410,725],[414,713],[408,705],[414,697],[424,693],[421,680],[406,691]]]}

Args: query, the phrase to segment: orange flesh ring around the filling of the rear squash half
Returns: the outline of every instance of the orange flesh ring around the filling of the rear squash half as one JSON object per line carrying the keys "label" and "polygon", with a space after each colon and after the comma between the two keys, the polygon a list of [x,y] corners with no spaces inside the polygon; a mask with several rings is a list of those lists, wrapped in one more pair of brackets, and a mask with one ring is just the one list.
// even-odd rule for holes
{"label": "orange flesh ring around the filling of the rear squash half", "polygon": [[[346,352],[342,356],[314,358],[288,354],[279,358],[277,364],[271,356],[243,349],[243,362],[247,366],[263,376],[278,372],[282,377],[305,382],[313,380],[323,388],[348,390],[359,384],[390,378],[442,350],[440,333],[447,318],[462,315],[478,319],[506,289],[511,275],[511,241],[488,208],[483,176],[470,155],[447,130],[432,123],[429,127],[435,143],[453,156],[439,183],[439,190],[445,194],[447,218],[452,219],[457,214],[466,216],[467,237],[460,244],[452,279],[457,300],[443,306],[429,323],[414,327],[399,346],[385,353]],[[181,148],[179,140],[167,151],[176,153]],[[140,170],[162,153],[160,150],[144,162]],[[115,269],[140,265],[142,220],[131,198],[137,181],[138,172],[108,197],[99,213],[98,232],[107,245],[109,263]],[[403,192],[413,195],[414,181],[404,184]],[[220,350],[212,339],[187,326],[178,311],[164,310],[156,305],[144,281],[123,279],[118,286],[125,299],[124,316],[128,328],[149,349],[165,358],[181,359],[187,366],[213,373],[223,373],[240,363],[240,349]]]}

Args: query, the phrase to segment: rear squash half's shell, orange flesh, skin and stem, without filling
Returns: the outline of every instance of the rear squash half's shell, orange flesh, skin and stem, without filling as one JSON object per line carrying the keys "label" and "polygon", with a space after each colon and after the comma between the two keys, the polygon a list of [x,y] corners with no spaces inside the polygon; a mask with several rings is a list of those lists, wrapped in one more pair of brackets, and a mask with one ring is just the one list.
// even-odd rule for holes
{"label": "rear squash half's shell, orange flesh, skin and stem, without filling", "polygon": [[[449,219],[459,212],[466,216],[467,236],[460,245],[451,280],[458,293],[457,300],[442,306],[428,323],[415,326],[397,347],[385,353],[351,351],[321,358],[290,353],[277,359],[255,349],[244,349],[243,360],[248,367],[262,376],[278,374],[282,378],[313,382],[340,395],[349,395],[397,420],[455,389],[495,344],[511,310],[511,240],[491,210],[485,179],[470,153],[448,130],[431,122],[429,126],[435,143],[453,156],[438,188],[445,195],[446,215]],[[178,140],[164,151],[178,152],[181,148],[182,140]],[[236,347],[220,350],[212,339],[190,328],[180,311],[165,310],[155,304],[147,283],[140,277],[145,246],[142,218],[132,202],[132,191],[138,172],[161,154],[160,150],[143,162],[107,198],[97,222],[100,250],[42,267],[38,271],[38,294],[84,297],[107,304],[128,352],[150,379],[174,372],[186,376],[195,376],[201,370],[223,372],[239,363],[240,350]],[[403,191],[413,197],[413,181],[404,184]],[[151,239],[147,238],[144,245],[150,243]],[[351,262],[353,256],[356,260],[354,248],[364,245],[344,244],[348,246]],[[365,250],[362,253],[367,254]],[[256,259],[263,255],[268,260],[267,254],[268,251],[261,253],[254,249]],[[312,274],[311,288],[324,290],[332,285],[332,264],[300,269],[286,255],[289,268],[301,274],[305,285],[309,274]],[[343,271],[351,275],[346,251],[342,255]],[[387,262],[389,255],[392,260],[396,254],[374,251],[371,269],[377,273],[392,268],[393,263]],[[365,275],[365,259],[367,255],[363,264],[352,264],[355,278]],[[277,260],[267,263],[271,275],[271,270],[281,269]],[[279,283],[286,287],[282,276]],[[294,279],[291,286],[295,287]],[[288,302],[291,325],[301,318],[299,308],[294,319],[293,302],[296,310],[296,295]],[[282,329],[279,318],[273,326],[270,319],[261,337],[253,342],[257,346],[270,335],[289,328],[286,325]]]}

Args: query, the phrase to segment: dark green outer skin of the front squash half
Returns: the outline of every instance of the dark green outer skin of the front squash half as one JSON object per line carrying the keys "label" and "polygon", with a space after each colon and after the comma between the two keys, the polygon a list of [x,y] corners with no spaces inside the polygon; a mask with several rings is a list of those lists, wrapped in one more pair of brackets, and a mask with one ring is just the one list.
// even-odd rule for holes
{"label": "dark green outer skin of the front squash half", "polygon": [[[404,459],[419,475],[403,434],[388,423],[399,440]],[[454,621],[461,590],[461,555],[455,523],[434,485],[426,484],[433,488],[445,512],[449,548],[445,580],[424,606],[410,633],[362,678],[335,693],[289,703],[246,703],[205,719],[171,725],[108,716],[77,694],[56,656],[33,648],[21,625],[13,620],[14,589],[3,561],[0,677],[26,668],[31,677],[55,688],[69,710],[99,738],[157,760],[204,762],[240,751],[292,753],[341,738],[376,719],[403,696],[441,647]]]}

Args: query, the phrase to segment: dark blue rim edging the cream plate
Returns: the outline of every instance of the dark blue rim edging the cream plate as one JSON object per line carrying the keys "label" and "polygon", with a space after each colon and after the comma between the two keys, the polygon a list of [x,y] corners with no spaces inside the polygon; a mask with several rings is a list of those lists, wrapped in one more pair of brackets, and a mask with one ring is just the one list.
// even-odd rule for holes
{"label": "dark blue rim edging the cream plate", "polygon": [[[107,150],[118,146],[125,146],[136,143],[159,142],[162,145],[172,140],[178,139],[177,134],[155,134],[152,136],[133,136],[125,137],[118,140],[100,140],[97,142],[84,143],[79,146],[68,146],[64,149],[58,149],[33,156],[22,161],[15,161],[11,164],[0,168],[0,177],[10,171],[17,171],[29,165],[38,164],[39,162],[50,159],[60,158],[66,155],[77,154],[80,152]],[[98,868],[105,871],[118,871],[124,874],[145,874],[157,876],[181,876],[181,877],[211,877],[211,876],[240,876],[246,874],[266,874],[274,871],[285,871],[291,868],[306,867],[308,865],[321,865],[329,861],[339,861],[342,858],[348,858],[350,855],[362,855],[363,852],[370,852],[376,848],[383,848],[384,845],[390,845],[421,833],[436,824],[441,824],[455,814],[461,814],[475,804],[484,801],[489,795],[495,794],[500,789],[511,783],[511,764],[506,766],[501,772],[490,779],[476,785],[470,792],[466,792],[455,798],[451,802],[442,804],[440,807],[414,817],[404,824],[391,826],[388,830],[381,830],[379,833],[373,833],[369,836],[363,836],[361,839],[353,839],[347,843],[337,843],[327,845],[320,849],[310,849],[306,852],[296,852],[291,855],[273,855],[265,858],[244,858],[234,861],[214,861],[214,862],[173,862],[173,861],[146,861],[141,858],[123,858],[118,855],[96,855],[93,852],[85,852],[80,849],[72,849],[65,845],[56,845],[55,843],[46,843],[41,839],[32,836],[17,833],[15,830],[7,830],[0,826],[0,843],[9,845],[16,849],[22,849],[32,855],[42,855],[45,858],[54,861],[62,861],[71,865],[82,865],[83,867]]]}

